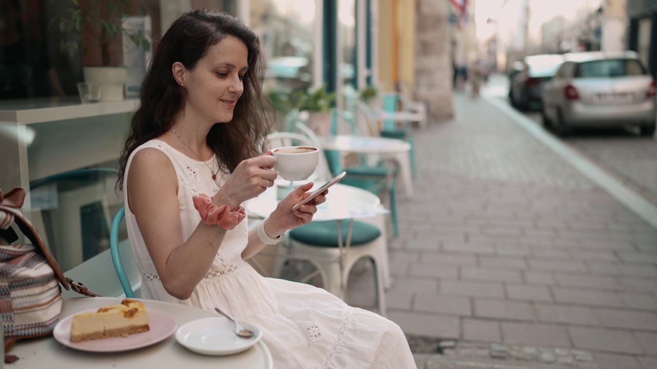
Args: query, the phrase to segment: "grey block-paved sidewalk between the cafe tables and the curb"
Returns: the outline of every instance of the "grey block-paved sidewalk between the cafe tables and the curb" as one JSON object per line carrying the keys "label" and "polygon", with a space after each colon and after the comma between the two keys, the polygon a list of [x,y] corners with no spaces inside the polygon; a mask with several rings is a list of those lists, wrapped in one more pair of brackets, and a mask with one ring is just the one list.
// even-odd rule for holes
{"label": "grey block-paved sidewalk between the cafe tables and the curb", "polygon": [[[416,131],[415,197],[390,240],[388,318],[419,367],[657,368],[657,229],[487,98],[455,110]],[[370,274],[348,302],[374,306]]]}

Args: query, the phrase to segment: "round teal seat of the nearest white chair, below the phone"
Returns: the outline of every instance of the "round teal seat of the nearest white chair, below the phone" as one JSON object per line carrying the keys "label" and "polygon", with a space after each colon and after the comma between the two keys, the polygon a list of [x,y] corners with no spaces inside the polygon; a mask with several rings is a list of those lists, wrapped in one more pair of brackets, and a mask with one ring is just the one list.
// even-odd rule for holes
{"label": "round teal seat of the nearest white chair, below the phone", "polygon": [[[342,222],[340,225],[340,233],[342,233],[342,242],[347,242],[347,234],[349,231],[348,221]],[[292,240],[302,242],[308,246],[337,248],[338,247],[338,222],[312,222],[299,228],[290,230],[290,238]],[[369,223],[353,221],[353,229],[351,230],[351,246],[358,246],[372,242],[381,235],[381,231]]]}

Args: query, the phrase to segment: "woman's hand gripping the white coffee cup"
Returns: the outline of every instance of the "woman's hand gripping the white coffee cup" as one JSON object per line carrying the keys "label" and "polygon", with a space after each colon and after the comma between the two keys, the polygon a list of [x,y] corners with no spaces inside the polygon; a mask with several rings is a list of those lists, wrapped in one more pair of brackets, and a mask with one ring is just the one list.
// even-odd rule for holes
{"label": "woman's hand gripping the white coffee cup", "polygon": [[214,203],[217,206],[226,204],[236,210],[242,202],[260,195],[273,185],[278,176],[271,170],[273,166],[274,157],[271,151],[256,158],[242,160],[219,188],[219,192],[214,196]]}

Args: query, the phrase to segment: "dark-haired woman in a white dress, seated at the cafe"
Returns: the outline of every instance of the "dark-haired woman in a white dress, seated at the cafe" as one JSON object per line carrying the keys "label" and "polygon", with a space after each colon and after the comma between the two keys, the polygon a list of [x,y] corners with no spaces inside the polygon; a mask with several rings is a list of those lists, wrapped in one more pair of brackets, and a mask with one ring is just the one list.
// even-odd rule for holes
{"label": "dark-haired woman in a white dress, seated at the cafe", "polygon": [[415,368],[393,322],[243,262],[311,221],[327,193],[292,211],[302,185],[248,232],[240,204],[277,176],[271,153],[258,156],[263,67],[256,34],[227,14],[188,12],[162,37],[120,161],[142,296],[256,322],[275,368]]}

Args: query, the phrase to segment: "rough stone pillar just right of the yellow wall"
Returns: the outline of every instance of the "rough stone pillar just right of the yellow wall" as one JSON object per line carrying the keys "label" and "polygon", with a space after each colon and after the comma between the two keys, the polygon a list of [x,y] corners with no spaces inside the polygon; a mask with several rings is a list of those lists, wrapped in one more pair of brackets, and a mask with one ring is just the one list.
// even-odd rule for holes
{"label": "rough stone pillar just right of the yellow wall", "polygon": [[417,0],[415,98],[426,102],[430,123],[454,115],[447,3]]}

